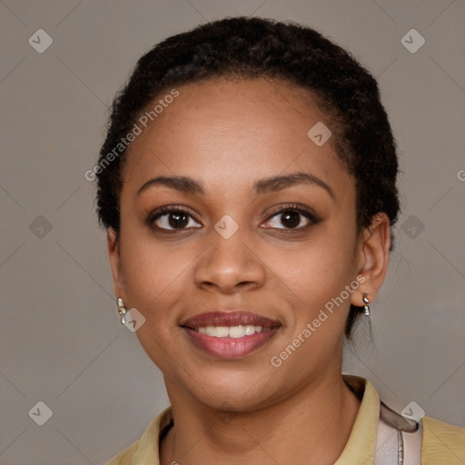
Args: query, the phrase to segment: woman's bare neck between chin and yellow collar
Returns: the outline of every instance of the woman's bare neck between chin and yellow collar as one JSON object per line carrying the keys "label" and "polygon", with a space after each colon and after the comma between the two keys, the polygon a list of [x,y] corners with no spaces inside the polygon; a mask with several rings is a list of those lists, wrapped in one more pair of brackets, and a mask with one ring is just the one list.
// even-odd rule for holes
{"label": "woman's bare neck between chin and yellow collar", "polygon": [[360,407],[341,373],[259,411],[220,412],[172,394],[174,426],[161,445],[162,465],[333,464]]}

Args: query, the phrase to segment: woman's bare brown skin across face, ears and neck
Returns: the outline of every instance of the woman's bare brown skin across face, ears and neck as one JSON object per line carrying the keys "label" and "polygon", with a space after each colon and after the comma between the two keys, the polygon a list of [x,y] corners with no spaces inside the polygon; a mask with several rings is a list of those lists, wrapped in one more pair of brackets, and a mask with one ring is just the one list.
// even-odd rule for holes
{"label": "woman's bare brown skin across face, ears and neck", "polygon": [[[178,90],[132,144],[120,234],[108,230],[114,292],[143,313],[137,337],[163,371],[173,406],[161,463],[334,463],[360,406],[341,377],[344,324],[351,303],[361,306],[362,293],[372,303],[385,278],[389,219],[379,213],[356,235],[354,180],[331,139],[318,147],[307,136],[331,121],[302,88],[217,78]],[[252,192],[262,178],[297,172],[318,177],[333,197],[315,183]],[[156,185],[137,195],[159,175],[191,176],[205,193]],[[302,215],[298,227],[310,227],[292,230],[276,214],[290,203],[311,208],[320,223]],[[187,230],[157,230],[170,228],[169,215],[145,223],[162,205],[192,214]],[[214,229],[226,214],[239,226],[229,239]],[[273,367],[272,356],[360,275],[360,288]],[[242,359],[219,360],[179,326],[214,309],[256,312],[281,328]]]}

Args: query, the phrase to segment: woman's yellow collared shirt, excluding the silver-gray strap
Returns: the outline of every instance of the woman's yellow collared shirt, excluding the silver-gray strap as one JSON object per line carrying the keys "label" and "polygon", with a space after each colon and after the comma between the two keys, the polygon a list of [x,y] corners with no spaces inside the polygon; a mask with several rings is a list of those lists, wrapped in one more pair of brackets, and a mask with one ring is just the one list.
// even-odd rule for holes
{"label": "woman's yellow collared shirt, excluding the silver-gray strap", "polygon": [[[364,385],[361,406],[351,430],[351,436],[334,465],[372,465],[376,444],[380,397],[370,381],[343,374],[344,381],[359,381]],[[168,407],[160,413],[137,440],[114,457],[107,465],[160,465],[159,438],[173,423]],[[465,429],[423,417],[421,465],[465,465]]]}

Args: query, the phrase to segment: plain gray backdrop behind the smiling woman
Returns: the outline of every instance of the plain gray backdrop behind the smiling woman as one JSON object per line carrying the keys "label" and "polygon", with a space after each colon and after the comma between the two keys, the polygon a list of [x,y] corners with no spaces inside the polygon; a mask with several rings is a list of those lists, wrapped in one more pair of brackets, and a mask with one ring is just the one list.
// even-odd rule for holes
{"label": "plain gray backdrop behind the smiling woman", "polygon": [[[104,463],[167,405],[161,373],[119,323],[84,172],[136,59],[225,15],[312,25],[378,77],[400,149],[403,213],[371,307],[373,341],[361,327],[345,371],[368,377],[398,411],[416,401],[465,426],[463,0],[4,0],[2,464]],[[43,54],[28,44],[40,28],[54,40]],[[411,28],[426,40],[415,54],[401,44]],[[44,426],[28,416],[37,401],[53,411]]]}

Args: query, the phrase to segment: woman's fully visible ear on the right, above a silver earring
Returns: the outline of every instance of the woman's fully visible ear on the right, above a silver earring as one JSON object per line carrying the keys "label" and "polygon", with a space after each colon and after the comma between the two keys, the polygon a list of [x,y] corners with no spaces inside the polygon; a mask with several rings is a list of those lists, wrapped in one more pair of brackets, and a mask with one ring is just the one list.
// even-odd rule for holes
{"label": "woman's fully visible ear on the right, above a silver earring", "polygon": [[391,248],[391,226],[386,213],[377,213],[372,217],[370,227],[361,234],[358,245],[358,279],[360,291],[351,295],[351,303],[358,307],[364,305],[363,294],[368,294],[374,302],[388,272],[389,252]]}

